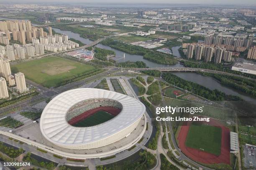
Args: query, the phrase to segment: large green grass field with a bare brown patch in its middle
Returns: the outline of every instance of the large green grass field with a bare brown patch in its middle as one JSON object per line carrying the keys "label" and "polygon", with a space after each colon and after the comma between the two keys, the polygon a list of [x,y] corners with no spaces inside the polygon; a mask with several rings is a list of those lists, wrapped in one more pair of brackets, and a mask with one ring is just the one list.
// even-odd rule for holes
{"label": "large green grass field with a bare brown patch in its middle", "polygon": [[45,87],[55,87],[61,82],[99,69],[59,57],[44,57],[11,65],[12,72],[23,72],[25,77]]}

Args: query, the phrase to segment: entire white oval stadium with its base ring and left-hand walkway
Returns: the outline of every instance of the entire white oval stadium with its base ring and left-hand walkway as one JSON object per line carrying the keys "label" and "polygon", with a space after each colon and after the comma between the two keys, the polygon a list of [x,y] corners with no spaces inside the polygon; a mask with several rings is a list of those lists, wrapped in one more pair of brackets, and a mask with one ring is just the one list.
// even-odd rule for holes
{"label": "entire white oval stadium with its base ring and left-hand walkway", "polygon": [[117,92],[78,88],[54,97],[40,118],[44,140],[8,136],[67,158],[104,158],[131,148],[146,132],[146,108]]}

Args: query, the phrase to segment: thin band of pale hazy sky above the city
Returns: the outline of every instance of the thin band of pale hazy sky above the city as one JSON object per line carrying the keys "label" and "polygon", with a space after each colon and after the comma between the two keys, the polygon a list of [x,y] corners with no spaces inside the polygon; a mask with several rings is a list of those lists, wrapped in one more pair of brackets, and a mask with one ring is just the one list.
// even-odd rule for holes
{"label": "thin band of pale hazy sky above the city", "polygon": [[[168,4],[251,4],[256,6],[256,0],[0,0],[0,3],[168,3]],[[132,5],[132,4],[131,4]]]}

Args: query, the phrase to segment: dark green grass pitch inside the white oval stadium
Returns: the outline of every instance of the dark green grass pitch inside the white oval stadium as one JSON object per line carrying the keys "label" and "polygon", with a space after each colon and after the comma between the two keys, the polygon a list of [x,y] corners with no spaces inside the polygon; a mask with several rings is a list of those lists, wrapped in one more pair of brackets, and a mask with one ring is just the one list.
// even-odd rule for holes
{"label": "dark green grass pitch inside the white oval stadium", "polygon": [[99,125],[103,122],[106,122],[106,121],[112,119],[113,117],[115,117],[115,116],[111,115],[108,112],[105,112],[104,110],[100,110],[100,111],[94,113],[93,115],[86,117],[84,120],[81,120],[81,121],[75,123],[72,126],[75,126],[75,127],[95,126],[95,125]]}

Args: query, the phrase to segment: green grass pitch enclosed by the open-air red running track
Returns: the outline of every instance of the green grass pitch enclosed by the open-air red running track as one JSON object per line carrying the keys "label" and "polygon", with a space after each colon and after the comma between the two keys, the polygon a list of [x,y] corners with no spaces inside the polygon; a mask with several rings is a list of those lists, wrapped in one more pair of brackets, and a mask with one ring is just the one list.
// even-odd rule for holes
{"label": "green grass pitch enclosed by the open-air red running track", "polygon": [[186,146],[220,155],[221,128],[192,123],[187,134]]}

